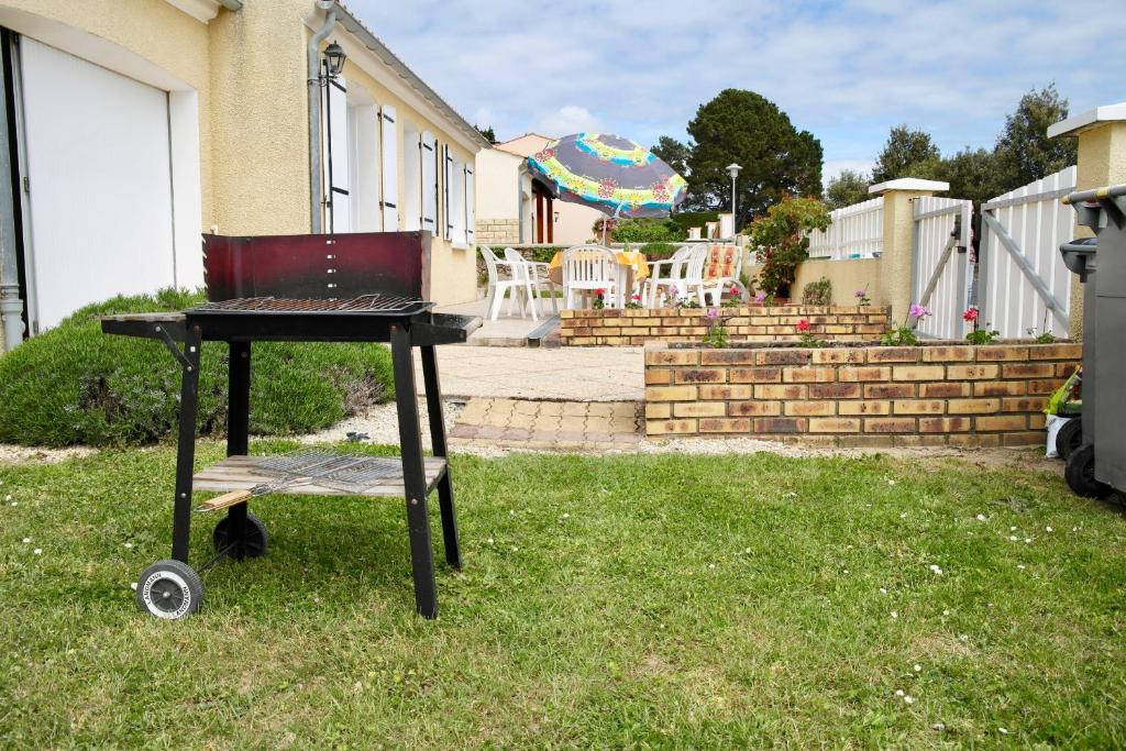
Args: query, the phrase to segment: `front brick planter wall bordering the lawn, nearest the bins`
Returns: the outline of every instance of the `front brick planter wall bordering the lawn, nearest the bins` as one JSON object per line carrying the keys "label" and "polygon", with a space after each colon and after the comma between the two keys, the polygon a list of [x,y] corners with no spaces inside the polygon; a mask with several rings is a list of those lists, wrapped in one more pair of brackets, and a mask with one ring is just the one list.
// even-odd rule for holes
{"label": "front brick planter wall bordering the lawn, nearest the bins", "polygon": [[1082,346],[645,348],[649,436],[1026,446]]}

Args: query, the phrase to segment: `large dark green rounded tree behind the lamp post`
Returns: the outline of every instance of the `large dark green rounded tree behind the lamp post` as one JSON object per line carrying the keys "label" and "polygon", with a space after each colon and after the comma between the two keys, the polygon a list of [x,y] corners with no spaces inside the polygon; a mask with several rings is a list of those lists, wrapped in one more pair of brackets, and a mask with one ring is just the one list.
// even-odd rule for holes
{"label": "large dark green rounded tree behind the lamp post", "polygon": [[688,124],[687,168],[695,208],[731,207],[727,164],[736,162],[739,224],[786,196],[821,196],[821,142],[798,131],[777,105],[753,91],[725,89]]}

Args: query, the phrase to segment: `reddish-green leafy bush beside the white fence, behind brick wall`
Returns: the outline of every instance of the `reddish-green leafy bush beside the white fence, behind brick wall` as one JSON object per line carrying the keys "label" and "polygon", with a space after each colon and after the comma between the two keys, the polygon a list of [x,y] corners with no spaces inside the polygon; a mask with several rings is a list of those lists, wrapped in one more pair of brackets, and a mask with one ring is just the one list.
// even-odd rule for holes
{"label": "reddish-green leafy bush beside the white fence, behind brick wall", "polygon": [[797,265],[808,258],[807,230],[824,230],[829,211],[815,198],[786,198],[771,206],[747,229],[751,243],[759,249],[758,288],[779,297],[794,284]]}

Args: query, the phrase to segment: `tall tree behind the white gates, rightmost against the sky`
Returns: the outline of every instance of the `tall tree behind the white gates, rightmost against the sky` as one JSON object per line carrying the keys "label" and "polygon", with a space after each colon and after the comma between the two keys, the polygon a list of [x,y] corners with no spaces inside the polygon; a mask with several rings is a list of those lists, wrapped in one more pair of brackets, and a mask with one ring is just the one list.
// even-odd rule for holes
{"label": "tall tree behind the white gates, rightmost against the sky", "polygon": [[[1067,118],[1067,100],[1049,83],[1020,98],[1017,111],[1004,118],[994,152],[1013,188],[1058,172],[1075,163],[1075,138],[1049,138],[1048,126]],[[1009,188],[1011,189],[1011,188]]]}

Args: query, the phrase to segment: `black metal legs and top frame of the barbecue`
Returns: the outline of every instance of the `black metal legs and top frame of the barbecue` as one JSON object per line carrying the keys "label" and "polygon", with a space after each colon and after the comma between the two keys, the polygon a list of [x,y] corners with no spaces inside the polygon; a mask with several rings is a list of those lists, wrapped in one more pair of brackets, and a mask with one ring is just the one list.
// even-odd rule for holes
{"label": "black metal legs and top frame of the barbecue", "polygon": [[[462,554],[449,466],[447,464],[432,483],[428,483],[426,476],[411,350],[414,347],[421,350],[431,448],[435,457],[445,459],[448,456],[446,424],[435,347],[464,342],[468,333],[480,323],[480,319],[431,313],[428,310],[414,314],[386,311],[366,314],[305,311],[271,312],[268,315],[244,310],[208,310],[104,318],[101,322],[104,332],[161,341],[180,363],[182,369],[172,512],[172,557],[188,563],[199,360],[200,346],[204,341],[226,341],[230,349],[227,456],[244,456],[249,448],[252,341],[390,341],[415,608],[426,618],[436,617],[438,599],[430,519],[427,512],[427,499],[431,490],[438,491],[446,563],[453,569],[461,569]],[[182,342],[182,346],[179,342]],[[227,509],[230,539],[235,540],[230,555],[235,558],[242,557],[240,551],[242,540],[248,534],[248,511],[249,503],[240,503]]]}

